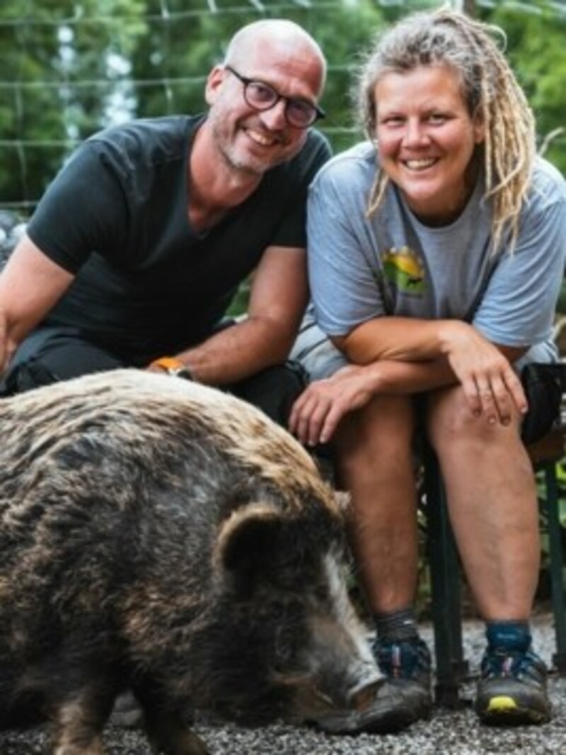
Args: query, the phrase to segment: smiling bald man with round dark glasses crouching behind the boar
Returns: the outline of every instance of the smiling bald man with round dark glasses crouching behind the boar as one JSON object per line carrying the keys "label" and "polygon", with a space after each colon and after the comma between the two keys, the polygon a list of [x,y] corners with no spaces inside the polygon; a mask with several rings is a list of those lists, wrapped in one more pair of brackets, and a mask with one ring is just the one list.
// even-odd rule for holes
{"label": "smiling bald man with round dark glasses crouching behind the boar", "polygon": [[[285,422],[300,390],[280,365],[306,303],[306,190],[329,156],[310,128],[324,82],[300,26],[259,21],[208,75],[208,113],[130,122],[80,146],[0,276],[4,393],[149,367]],[[253,270],[248,317],[225,327]]]}

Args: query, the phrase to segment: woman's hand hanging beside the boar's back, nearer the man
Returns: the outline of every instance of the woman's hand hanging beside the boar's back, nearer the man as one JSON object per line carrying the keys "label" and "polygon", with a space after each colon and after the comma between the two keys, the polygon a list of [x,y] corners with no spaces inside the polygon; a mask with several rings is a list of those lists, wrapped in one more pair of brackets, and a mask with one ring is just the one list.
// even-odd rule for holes
{"label": "woman's hand hanging beside the boar's back, nearer the man", "polygon": [[349,411],[361,409],[377,392],[377,365],[348,365],[311,383],[294,403],[289,430],[305,445],[326,443]]}

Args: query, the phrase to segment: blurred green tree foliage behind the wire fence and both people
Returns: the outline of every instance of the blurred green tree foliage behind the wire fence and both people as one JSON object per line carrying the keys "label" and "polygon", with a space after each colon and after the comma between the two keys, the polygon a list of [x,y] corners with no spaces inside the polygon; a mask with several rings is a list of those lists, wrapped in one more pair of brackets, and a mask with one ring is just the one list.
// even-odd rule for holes
{"label": "blurred green tree foliage behind the wire fence and both people", "polygon": [[[285,4],[285,5],[284,5]],[[438,2],[377,0],[2,0],[0,206],[35,202],[72,147],[112,122],[205,108],[206,75],[245,23],[288,17],[329,61],[321,122],[334,149],[358,140],[349,91],[375,33]],[[478,8],[503,26],[540,142],[566,126],[566,14],[550,0]],[[216,11],[214,11],[216,8]],[[263,8],[263,11],[258,10]],[[281,11],[281,8],[284,11]],[[528,10],[525,10],[528,8]],[[212,10],[211,10],[212,9]],[[566,172],[566,134],[546,156]]]}

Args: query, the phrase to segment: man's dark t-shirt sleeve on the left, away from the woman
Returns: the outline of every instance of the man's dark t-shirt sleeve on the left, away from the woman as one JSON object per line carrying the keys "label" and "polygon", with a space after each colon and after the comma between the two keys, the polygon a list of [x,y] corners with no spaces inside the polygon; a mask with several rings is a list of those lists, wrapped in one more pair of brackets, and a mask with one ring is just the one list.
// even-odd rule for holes
{"label": "man's dark t-shirt sleeve on the left, away from the woman", "polygon": [[92,251],[120,244],[127,217],[118,160],[85,142],[48,186],[27,233],[51,260],[76,273]]}

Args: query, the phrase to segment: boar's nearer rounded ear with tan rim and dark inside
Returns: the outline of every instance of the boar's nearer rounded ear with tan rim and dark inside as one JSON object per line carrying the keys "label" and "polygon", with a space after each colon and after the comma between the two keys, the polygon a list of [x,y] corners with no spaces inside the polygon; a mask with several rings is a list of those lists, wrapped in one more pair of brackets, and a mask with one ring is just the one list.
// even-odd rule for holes
{"label": "boar's nearer rounded ear with tan rim and dark inside", "polygon": [[215,559],[248,588],[269,569],[288,535],[288,518],[269,504],[248,504],[232,513],[217,538]]}

